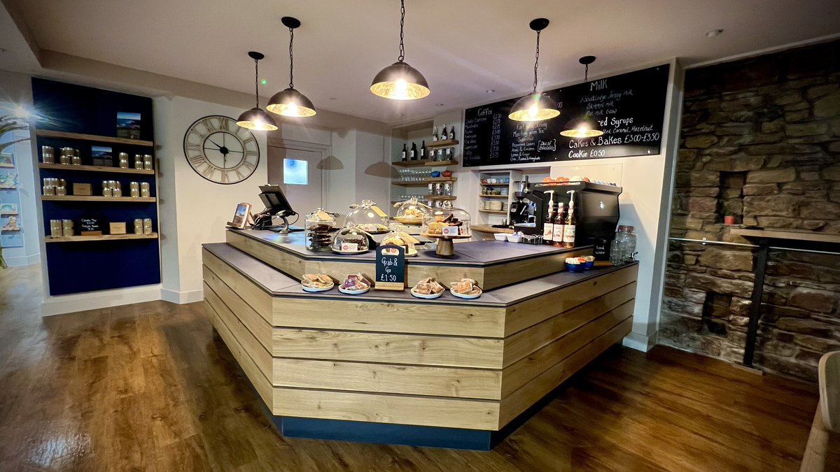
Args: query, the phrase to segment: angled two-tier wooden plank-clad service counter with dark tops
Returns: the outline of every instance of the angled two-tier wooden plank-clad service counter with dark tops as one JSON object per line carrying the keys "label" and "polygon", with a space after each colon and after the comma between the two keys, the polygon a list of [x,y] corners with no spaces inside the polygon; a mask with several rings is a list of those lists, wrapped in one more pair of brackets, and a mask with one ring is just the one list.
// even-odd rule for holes
{"label": "angled two-tier wooden plank-clad service counter with dark tops", "polygon": [[[297,251],[245,238],[267,259]],[[409,272],[543,264],[539,254],[556,255],[488,243],[458,244],[459,261],[409,259]],[[503,427],[629,333],[638,271],[571,274],[558,272],[560,263],[472,301],[449,293],[421,300],[408,291],[308,293],[302,272],[284,274],[277,260],[234,244],[205,244],[202,254],[213,326],[283,434],[465,448],[490,448]],[[331,260],[345,275],[367,264],[303,255],[283,264]]]}

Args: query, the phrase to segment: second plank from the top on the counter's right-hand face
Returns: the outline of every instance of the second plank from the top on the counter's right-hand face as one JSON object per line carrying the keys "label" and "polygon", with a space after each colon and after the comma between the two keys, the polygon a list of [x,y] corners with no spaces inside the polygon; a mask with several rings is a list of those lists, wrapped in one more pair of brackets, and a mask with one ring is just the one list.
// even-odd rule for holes
{"label": "second plank from the top on the counter's right-hand face", "polygon": [[635,295],[636,282],[633,282],[505,338],[504,365],[522,359],[554,339],[633,299]]}

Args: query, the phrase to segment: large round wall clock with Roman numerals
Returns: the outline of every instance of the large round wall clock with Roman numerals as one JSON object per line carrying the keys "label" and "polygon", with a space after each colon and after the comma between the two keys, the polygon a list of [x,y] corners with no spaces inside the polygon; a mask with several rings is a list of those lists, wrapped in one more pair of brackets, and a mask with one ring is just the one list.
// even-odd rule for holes
{"label": "large round wall clock with Roman numerals", "polygon": [[184,155],[199,176],[229,185],[254,173],[260,163],[260,144],[234,118],[209,115],[186,130]]}

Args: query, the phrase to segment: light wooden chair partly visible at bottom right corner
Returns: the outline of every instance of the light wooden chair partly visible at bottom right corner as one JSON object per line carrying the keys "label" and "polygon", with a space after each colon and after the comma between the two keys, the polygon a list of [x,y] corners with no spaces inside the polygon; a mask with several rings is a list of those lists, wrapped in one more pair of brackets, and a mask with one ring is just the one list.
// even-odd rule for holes
{"label": "light wooden chair partly visible at bottom right corner", "polygon": [[820,401],[816,404],[800,472],[822,471],[826,465],[829,432],[840,433],[840,351],[824,354],[818,369]]}

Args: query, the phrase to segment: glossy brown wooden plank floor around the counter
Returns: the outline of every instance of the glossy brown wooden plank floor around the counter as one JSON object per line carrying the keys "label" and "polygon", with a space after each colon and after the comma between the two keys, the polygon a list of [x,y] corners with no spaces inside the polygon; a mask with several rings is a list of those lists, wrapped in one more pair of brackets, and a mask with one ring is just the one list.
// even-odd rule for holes
{"label": "glossy brown wooden plank floor around the counter", "polygon": [[491,452],[281,438],[201,304],[42,318],[39,283],[0,270],[4,471],[797,470],[816,406],[807,385],[617,348]]}

